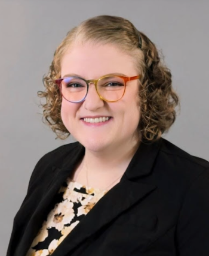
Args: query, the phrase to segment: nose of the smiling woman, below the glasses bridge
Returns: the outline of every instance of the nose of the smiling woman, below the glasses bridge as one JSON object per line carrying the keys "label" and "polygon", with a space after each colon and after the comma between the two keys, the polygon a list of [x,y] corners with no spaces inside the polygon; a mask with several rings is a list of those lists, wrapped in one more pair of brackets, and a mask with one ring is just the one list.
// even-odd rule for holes
{"label": "nose of the smiling woman, below the glasses bridge", "polygon": [[88,86],[88,94],[84,101],[84,107],[88,110],[97,110],[104,106],[104,101],[97,94],[94,82],[90,82]]}

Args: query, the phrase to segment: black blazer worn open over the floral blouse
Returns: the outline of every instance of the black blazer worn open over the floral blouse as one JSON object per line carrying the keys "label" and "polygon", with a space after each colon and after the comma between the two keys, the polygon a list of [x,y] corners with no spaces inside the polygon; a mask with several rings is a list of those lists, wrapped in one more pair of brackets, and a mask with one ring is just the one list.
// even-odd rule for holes
{"label": "black blazer worn open over the floral blouse", "polygon": [[[66,144],[44,155],[14,218],[7,256],[25,256],[48,207],[84,155]],[[121,181],[64,239],[53,256],[208,256],[209,163],[165,139],[142,143]]]}

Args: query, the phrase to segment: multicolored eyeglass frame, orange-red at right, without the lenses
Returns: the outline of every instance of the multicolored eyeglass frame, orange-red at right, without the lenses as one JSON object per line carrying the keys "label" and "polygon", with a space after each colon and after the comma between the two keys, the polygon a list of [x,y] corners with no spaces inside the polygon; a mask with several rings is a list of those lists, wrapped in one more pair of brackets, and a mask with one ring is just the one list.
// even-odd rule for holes
{"label": "multicolored eyeglass frame, orange-red at right, without the lenses", "polygon": [[[115,76],[115,77],[119,77],[119,78],[121,78],[121,79],[124,80],[124,86],[125,86],[125,88],[124,88],[124,93],[122,94],[121,98],[119,98],[118,100],[115,100],[115,101],[106,100],[104,97],[102,97],[102,95],[99,94],[99,91],[98,91],[98,89],[97,89],[97,83],[99,82],[99,80],[101,80],[101,79],[103,79],[103,78],[105,78],[105,77],[108,77],[108,76],[111,76],[111,77],[112,77],[112,76]],[[82,100],[80,100],[80,101],[69,101],[69,100],[67,100],[67,99],[64,97],[64,95],[63,95],[63,93],[62,93],[62,81],[63,81],[64,79],[69,78],[69,77],[63,77],[63,78],[60,78],[60,79],[56,79],[56,80],[54,80],[54,82],[55,82],[56,85],[59,87],[60,94],[62,95],[62,97],[63,97],[66,101],[69,101],[70,103],[81,103],[81,102],[84,101],[85,98],[87,97],[88,88],[89,88],[89,84],[90,84],[90,83],[94,83],[94,86],[95,86],[95,88],[96,88],[96,92],[97,92],[97,94],[99,95],[99,97],[100,97],[101,100],[107,101],[107,102],[116,102],[116,101],[119,101],[119,100],[122,99],[122,97],[124,97],[125,89],[126,89],[126,83],[127,83],[128,81],[131,81],[131,80],[139,79],[139,78],[140,78],[140,75],[138,75],[138,76],[133,76],[133,77],[127,77],[127,76],[119,76],[119,75],[111,74],[111,75],[102,76],[102,77],[100,77],[99,79],[89,79],[89,80],[85,80],[85,79],[83,79],[82,77],[77,77],[77,76],[70,76],[70,77],[78,78],[78,79],[84,80],[84,82],[87,84],[87,93],[85,94],[85,97],[82,98]]]}

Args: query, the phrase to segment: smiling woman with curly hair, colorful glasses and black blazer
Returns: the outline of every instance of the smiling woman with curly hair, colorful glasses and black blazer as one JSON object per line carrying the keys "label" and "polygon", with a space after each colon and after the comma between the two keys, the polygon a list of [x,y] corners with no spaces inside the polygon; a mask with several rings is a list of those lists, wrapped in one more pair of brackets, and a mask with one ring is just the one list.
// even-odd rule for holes
{"label": "smiling woman with curly hair, colorful glasses and black blazer", "polygon": [[44,84],[45,120],[77,142],[36,164],[7,255],[209,255],[209,163],[161,138],[179,99],[155,44],[121,17],[85,20]]}

